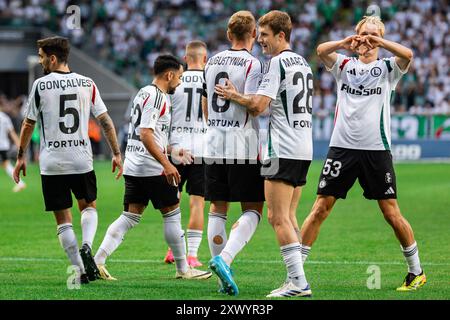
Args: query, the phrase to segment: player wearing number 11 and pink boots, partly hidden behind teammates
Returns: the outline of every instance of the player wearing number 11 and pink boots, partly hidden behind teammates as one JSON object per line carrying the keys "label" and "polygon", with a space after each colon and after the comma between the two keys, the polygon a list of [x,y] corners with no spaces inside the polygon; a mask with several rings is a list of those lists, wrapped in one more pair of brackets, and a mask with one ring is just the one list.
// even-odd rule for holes
{"label": "player wearing number 11 and pink boots, partly hidden behind teammates", "polygon": [[[194,163],[183,165],[174,163],[181,175],[178,185],[180,192],[186,183],[189,194],[189,223],[186,230],[188,255],[191,267],[200,267],[197,258],[198,248],[203,235],[203,211],[205,209],[205,166],[203,163],[203,139],[206,125],[202,112],[203,69],[207,59],[206,44],[194,40],[186,45],[184,60],[187,70],[183,72],[182,83],[173,95],[170,95],[172,117],[170,122],[169,144],[173,149],[189,150],[194,156]],[[164,262],[173,263],[173,252],[169,248]]]}

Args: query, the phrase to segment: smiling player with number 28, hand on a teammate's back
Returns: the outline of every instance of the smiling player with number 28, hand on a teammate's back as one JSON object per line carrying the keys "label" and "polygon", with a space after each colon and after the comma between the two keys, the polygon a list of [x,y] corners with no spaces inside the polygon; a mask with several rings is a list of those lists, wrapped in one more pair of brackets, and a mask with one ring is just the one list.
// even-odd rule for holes
{"label": "smiling player with number 28, hand on a teammate's back", "polygon": [[256,95],[240,94],[232,81],[217,85],[219,96],[236,101],[258,115],[270,106],[269,133],[264,152],[265,195],[287,269],[287,279],[267,297],[309,297],[303,270],[295,214],[301,187],[312,160],[312,71],[306,60],[290,49],[289,15],[270,11],[258,20],[258,42],[272,56]]}

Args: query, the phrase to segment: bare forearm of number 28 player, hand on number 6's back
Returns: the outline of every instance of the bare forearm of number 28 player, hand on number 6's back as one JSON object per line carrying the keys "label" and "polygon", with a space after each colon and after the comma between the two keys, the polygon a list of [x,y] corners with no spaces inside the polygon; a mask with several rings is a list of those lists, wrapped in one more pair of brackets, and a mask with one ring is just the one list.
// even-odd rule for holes
{"label": "bare forearm of number 28 player, hand on number 6's back", "polygon": [[214,91],[222,99],[232,100],[244,106],[252,116],[263,113],[272,101],[271,98],[259,94],[245,95],[239,93],[229,80],[226,80],[224,86],[217,84]]}

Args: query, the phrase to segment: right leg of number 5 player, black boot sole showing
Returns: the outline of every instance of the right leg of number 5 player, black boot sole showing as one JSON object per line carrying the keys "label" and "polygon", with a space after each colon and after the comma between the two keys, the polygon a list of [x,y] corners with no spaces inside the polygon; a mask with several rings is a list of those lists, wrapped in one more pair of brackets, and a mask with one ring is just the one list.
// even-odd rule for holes
{"label": "right leg of number 5 player, black boot sole showing", "polygon": [[81,213],[82,245],[80,255],[83,259],[84,267],[90,281],[100,279],[100,271],[92,256],[92,243],[97,232],[98,216],[95,200],[87,202],[85,199],[78,199],[78,208]]}

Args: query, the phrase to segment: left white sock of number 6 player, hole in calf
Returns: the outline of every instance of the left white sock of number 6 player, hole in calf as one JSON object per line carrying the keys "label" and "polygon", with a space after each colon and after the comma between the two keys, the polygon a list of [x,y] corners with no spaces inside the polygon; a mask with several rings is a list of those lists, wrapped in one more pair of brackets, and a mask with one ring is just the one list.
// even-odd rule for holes
{"label": "left white sock of number 6 player, hole in calf", "polygon": [[218,256],[227,244],[227,215],[210,212],[208,214],[208,245],[211,257]]}

